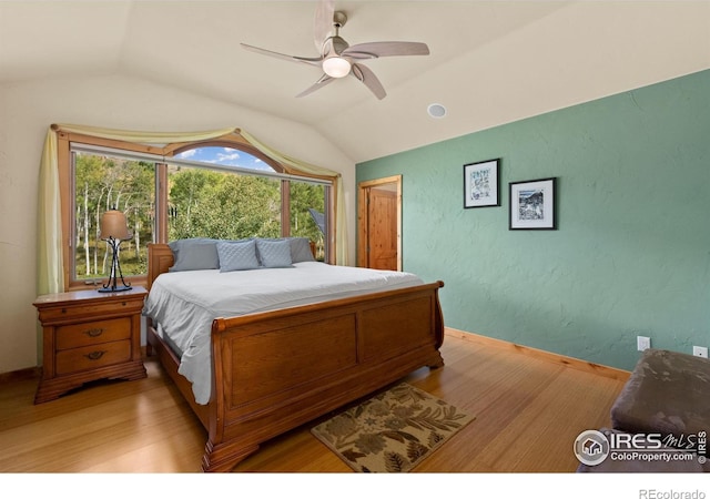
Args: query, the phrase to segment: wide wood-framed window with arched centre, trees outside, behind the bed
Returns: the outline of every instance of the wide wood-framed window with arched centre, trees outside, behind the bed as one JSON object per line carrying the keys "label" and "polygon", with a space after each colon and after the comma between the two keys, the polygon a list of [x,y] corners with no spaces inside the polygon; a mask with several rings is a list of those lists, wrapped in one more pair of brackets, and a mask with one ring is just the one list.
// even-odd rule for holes
{"label": "wide wood-framed window with arched centre, trees outside, behind the bed", "polygon": [[155,147],[121,141],[63,140],[69,288],[105,277],[111,253],[99,221],[110,208],[126,215],[131,240],[121,245],[121,268],[136,284],[148,269],[150,242],[302,236],[327,261],[331,182],[290,175],[250,144],[221,139],[155,154]]}

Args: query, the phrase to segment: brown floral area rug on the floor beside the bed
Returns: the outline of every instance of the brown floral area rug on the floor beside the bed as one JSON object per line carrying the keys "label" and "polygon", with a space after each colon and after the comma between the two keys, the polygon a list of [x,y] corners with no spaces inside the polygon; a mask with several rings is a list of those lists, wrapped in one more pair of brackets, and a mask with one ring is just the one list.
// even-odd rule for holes
{"label": "brown floral area rug on the floor beside the bed", "polygon": [[311,432],[355,471],[406,472],[474,419],[403,383]]}

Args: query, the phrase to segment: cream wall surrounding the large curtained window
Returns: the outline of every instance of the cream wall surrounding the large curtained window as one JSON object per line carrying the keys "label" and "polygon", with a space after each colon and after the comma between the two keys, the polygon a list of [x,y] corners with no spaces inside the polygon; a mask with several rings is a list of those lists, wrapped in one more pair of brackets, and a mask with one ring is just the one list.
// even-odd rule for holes
{"label": "cream wall surrounding the large curtained window", "polygon": [[37,195],[52,123],[125,130],[239,126],[268,145],[343,174],[351,263],[355,262],[355,165],[310,126],[124,77],[0,86],[0,373],[38,365]]}

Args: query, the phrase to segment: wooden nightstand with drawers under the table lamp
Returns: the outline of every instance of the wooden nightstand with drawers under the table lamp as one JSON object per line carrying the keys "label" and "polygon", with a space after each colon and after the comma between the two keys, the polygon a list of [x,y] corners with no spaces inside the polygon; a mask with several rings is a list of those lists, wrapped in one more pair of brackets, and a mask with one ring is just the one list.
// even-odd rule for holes
{"label": "wooden nightstand with drawers under the table lamp", "polygon": [[141,357],[141,310],[148,292],[78,291],[43,295],[34,306],[43,329],[42,378],[34,404],[87,381],[146,376]]}

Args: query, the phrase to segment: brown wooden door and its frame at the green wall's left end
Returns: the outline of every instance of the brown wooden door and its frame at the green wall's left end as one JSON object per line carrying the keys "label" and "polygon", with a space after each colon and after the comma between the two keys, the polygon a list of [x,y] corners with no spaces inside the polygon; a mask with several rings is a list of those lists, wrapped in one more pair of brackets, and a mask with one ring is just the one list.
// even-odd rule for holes
{"label": "brown wooden door and its frame at the green wall's left end", "polygon": [[362,267],[402,271],[402,177],[358,185],[358,256]]}

